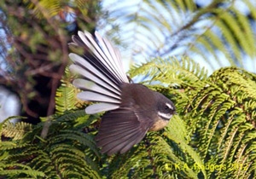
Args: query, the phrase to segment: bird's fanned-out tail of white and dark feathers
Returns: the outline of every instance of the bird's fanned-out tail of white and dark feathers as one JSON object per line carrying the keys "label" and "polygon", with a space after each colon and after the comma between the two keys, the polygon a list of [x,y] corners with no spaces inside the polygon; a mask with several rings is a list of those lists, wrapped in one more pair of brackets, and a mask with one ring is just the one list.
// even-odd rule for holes
{"label": "bird's fanned-out tail of white and dark feathers", "polygon": [[73,36],[73,47],[82,47],[84,55],[71,53],[72,72],[81,75],[73,81],[74,86],[84,90],[78,98],[96,101],[98,104],[85,109],[86,113],[99,113],[119,108],[120,84],[129,83],[122,66],[119,51],[96,32],[94,38],[89,32],[79,32]]}

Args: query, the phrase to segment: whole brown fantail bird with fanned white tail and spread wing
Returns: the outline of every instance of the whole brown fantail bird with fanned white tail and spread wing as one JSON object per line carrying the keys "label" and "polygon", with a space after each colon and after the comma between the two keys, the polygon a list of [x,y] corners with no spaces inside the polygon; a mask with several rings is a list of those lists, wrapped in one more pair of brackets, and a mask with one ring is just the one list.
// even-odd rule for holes
{"label": "whole brown fantail bird with fanned white tail and spread wing", "polygon": [[69,54],[72,72],[81,75],[73,85],[83,92],[82,101],[95,101],[85,113],[104,113],[97,147],[102,153],[125,153],[143,140],[148,130],[161,130],[176,108],[166,96],[149,90],[143,84],[130,84],[125,75],[119,51],[106,38],[95,33],[79,32],[73,36],[73,47],[83,48],[84,55]]}

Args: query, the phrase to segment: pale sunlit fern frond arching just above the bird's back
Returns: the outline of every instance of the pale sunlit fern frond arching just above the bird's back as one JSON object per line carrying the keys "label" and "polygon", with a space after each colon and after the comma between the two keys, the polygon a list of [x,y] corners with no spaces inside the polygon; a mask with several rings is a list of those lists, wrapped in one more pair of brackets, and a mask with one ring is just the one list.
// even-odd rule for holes
{"label": "pale sunlit fern frond arching just above the bird's back", "polygon": [[[172,68],[170,68],[172,66]],[[160,81],[169,85],[199,85],[207,78],[207,70],[200,68],[198,63],[183,58],[153,59],[141,66],[134,66],[129,71],[131,78],[137,75],[150,77],[148,81]]]}

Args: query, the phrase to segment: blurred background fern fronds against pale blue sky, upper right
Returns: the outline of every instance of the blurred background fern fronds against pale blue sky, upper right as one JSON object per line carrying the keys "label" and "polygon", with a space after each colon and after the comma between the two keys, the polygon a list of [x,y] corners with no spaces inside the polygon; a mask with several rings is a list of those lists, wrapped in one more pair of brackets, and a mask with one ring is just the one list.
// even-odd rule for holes
{"label": "blurred background fern fronds against pale blue sky, upper right", "polygon": [[113,22],[106,20],[125,34],[119,38],[127,59],[196,55],[193,60],[211,70],[227,64],[252,67],[243,63],[245,56],[254,64],[254,0],[212,0],[205,5],[193,0],[128,2],[110,4],[108,19]]}

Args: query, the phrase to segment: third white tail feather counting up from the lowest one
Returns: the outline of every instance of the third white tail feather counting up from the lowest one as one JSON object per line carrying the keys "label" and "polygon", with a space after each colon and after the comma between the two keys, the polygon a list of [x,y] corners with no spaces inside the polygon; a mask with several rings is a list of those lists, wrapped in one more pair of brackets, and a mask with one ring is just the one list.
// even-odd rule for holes
{"label": "third white tail feather counting up from the lowest one", "polygon": [[115,95],[113,94],[113,92],[110,92],[109,90],[106,90],[104,88],[102,88],[101,86],[95,84],[94,82],[92,81],[89,81],[89,80],[86,80],[86,79],[75,79],[73,80],[73,85],[79,89],[82,89],[82,90],[92,90],[92,91],[95,91],[97,93],[101,93],[101,94],[104,94],[104,95],[109,95],[113,98],[117,98],[119,100],[121,100],[120,98],[120,93],[119,95]]}

